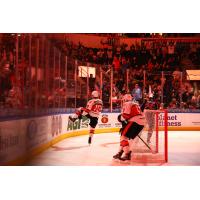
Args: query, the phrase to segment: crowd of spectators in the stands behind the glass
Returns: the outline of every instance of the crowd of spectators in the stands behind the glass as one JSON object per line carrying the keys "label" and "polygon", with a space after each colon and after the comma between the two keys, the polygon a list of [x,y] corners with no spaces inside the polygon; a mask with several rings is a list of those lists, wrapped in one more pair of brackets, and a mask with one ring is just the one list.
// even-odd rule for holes
{"label": "crowd of spectators in the stands behind the glass", "polygon": [[[110,37],[109,40],[113,38],[110,34],[108,34],[108,36]],[[138,34],[138,36],[140,37],[141,35]],[[15,41],[13,43],[14,45],[8,45],[9,41],[10,38],[6,40],[5,43],[2,41],[2,43],[0,43],[3,44],[0,46],[0,104],[4,105],[7,103],[7,106],[17,107],[20,104],[20,100],[17,103],[16,96],[18,96],[20,99],[21,95],[19,94],[20,91],[16,92],[18,91],[17,88],[13,88],[16,80],[14,72]],[[141,42],[141,44],[135,43],[132,46],[129,45],[130,48],[127,48],[127,44],[118,45],[114,41],[113,43],[110,42],[111,46],[108,46],[105,43],[104,49],[88,48],[84,47],[82,44],[75,45],[72,42],[66,42],[65,53],[68,56],[73,57],[73,59],[75,58],[84,62],[86,61],[101,64],[101,66],[107,68],[105,72],[108,73],[110,70],[108,65],[112,65],[115,71],[113,78],[116,82],[113,88],[117,88],[117,90],[119,90],[118,92],[115,91],[116,96],[125,90],[125,72],[127,68],[129,68],[130,83],[128,84],[128,87],[126,86],[126,89],[128,88],[133,92],[135,90],[134,86],[137,83],[138,86],[140,86],[140,92],[137,93],[134,91],[133,95],[135,95],[137,99],[141,99],[141,91],[142,89],[145,89],[142,88],[143,71],[146,70],[147,79],[150,80],[150,83],[148,83],[147,80],[146,86],[148,87],[148,84],[152,86],[155,101],[159,103],[161,102],[161,95],[163,92],[164,102],[167,107],[175,108],[179,107],[179,104],[181,104],[181,108],[199,107],[200,96],[196,92],[194,93],[192,90],[192,85],[189,82],[185,82],[184,77],[183,83],[181,84],[181,72],[184,72],[184,70],[177,68],[176,66],[181,66],[182,64],[188,66],[187,64],[183,63],[185,57],[188,58],[189,63],[195,63],[199,65],[200,48],[197,44],[190,45],[190,43],[187,43],[183,45],[181,42],[174,43],[168,41],[169,40],[144,40]],[[156,75],[156,73],[158,71],[160,73],[161,70],[163,70],[164,73],[167,73],[164,84],[162,84],[162,80],[160,80],[161,76]],[[118,76],[119,74],[120,76]],[[105,80],[103,86],[103,91],[105,91],[103,96],[107,99],[109,98],[110,93],[109,81],[110,80]],[[96,80],[95,82],[99,83],[100,81]],[[96,85],[97,84],[94,83],[94,79],[91,78],[90,88],[94,88]],[[182,88],[180,89],[181,86]],[[161,90],[162,87],[163,91]],[[100,89],[99,85],[98,88]],[[19,95],[16,95],[16,93]],[[183,102],[180,102],[180,94],[182,94]]]}

